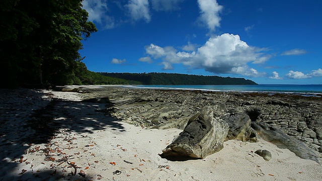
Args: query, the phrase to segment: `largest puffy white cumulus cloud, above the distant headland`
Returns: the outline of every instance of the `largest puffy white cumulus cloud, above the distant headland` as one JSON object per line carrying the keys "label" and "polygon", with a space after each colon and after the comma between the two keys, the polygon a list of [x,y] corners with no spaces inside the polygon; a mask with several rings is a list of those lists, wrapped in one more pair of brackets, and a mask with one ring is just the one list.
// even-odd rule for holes
{"label": "largest puffy white cumulus cloud, above the distant headland", "polygon": [[265,76],[266,73],[250,68],[248,63],[268,60],[267,55],[260,52],[261,49],[247,45],[238,35],[232,34],[211,37],[193,52],[154,44],[146,46],[145,51],[154,59],[161,58],[164,69],[168,69],[171,64],[181,63],[189,68],[203,68],[213,73],[236,73],[253,77]]}

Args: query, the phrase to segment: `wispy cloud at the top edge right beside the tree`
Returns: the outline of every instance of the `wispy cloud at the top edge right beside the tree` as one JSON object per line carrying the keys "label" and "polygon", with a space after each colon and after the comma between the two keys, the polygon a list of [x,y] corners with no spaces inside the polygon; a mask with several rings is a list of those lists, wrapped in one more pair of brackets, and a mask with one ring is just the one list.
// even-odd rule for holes
{"label": "wispy cloud at the top edge right beside the tree", "polygon": [[89,21],[102,24],[106,29],[115,27],[114,17],[106,15],[109,10],[106,0],[85,0],[82,4],[89,13]]}

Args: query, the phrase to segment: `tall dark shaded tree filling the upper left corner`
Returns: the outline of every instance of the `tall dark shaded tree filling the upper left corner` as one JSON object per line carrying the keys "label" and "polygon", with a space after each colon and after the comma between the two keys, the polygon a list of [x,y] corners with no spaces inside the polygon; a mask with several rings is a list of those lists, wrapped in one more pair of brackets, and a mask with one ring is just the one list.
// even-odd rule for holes
{"label": "tall dark shaded tree filling the upper left corner", "polygon": [[2,84],[72,84],[81,40],[97,32],[82,0],[0,2]]}

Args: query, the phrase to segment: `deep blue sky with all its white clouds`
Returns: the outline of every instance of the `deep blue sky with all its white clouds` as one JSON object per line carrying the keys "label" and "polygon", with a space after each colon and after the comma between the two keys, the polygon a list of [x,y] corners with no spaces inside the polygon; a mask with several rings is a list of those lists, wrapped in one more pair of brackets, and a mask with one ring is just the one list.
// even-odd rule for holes
{"label": "deep blue sky with all its white clouds", "polygon": [[320,0],[85,0],[95,72],[244,77],[322,84]]}

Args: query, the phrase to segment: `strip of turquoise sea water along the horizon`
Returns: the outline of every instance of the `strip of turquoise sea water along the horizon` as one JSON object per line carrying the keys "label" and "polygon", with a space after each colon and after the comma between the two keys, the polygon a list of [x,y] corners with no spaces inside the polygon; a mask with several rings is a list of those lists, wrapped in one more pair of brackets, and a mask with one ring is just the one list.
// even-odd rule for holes
{"label": "strip of turquoise sea water along the horizon", "polygon": [[259,85],[132,85],[133,88],[157,89],[190,89],[202,91],[224,92],[268,92],[268,93],[297,93],[321,94],[322,84],[259,84]]}

